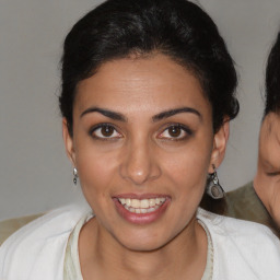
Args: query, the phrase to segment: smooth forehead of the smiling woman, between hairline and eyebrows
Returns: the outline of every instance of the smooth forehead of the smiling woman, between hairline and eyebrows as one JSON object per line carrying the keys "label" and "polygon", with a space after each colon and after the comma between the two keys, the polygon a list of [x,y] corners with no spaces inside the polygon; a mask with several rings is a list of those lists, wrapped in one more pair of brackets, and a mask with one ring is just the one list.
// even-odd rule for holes
{"label": "smooth forehead of the smiling woman, between hairline and eyebrows", "polygon": [[211,109],[198,79],[166,56],[103,63],[78,86],[74,107],[105,106],[119,112],[159,112],[190,106]]}

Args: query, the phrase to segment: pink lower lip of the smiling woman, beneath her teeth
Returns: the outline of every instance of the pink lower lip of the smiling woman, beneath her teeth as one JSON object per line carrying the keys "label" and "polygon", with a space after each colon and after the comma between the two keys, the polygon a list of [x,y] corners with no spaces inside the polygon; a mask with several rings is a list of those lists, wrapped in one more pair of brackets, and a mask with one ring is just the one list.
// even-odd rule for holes
{"label": "pink lower lip of the smiling woman, beneath her teeth", "polygon": [[117,198],[113,199],[115,202],[115,206],[117,208],[118,213],[128,222],[133,224],[149,224],[156,220],[159,220],[163,213],[165,212],[170,199],[166,199],[163,205],[160,206],[155,211],[150,213],[133,213],[128,211],[119,201]]}

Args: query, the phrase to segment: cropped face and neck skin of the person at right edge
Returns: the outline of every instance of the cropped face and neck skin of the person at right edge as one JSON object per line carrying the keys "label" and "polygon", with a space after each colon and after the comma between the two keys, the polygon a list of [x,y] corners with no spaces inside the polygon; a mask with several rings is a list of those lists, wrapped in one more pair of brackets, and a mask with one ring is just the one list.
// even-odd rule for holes
{"label": "cropped face and neck skin of the person at right edge", "polygon": [[269,113],[261,124],[254,187],[280,228],[280,115],[276,113]]}

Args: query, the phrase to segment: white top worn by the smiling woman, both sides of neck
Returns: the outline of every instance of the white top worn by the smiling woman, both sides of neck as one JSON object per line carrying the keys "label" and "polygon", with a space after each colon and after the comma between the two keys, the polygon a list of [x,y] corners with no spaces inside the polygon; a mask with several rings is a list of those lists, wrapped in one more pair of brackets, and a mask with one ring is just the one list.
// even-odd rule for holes
{"label": "white top worn by the smiling woman, both sides of neck", "polygon": [[[1,280],[62,280],[69,236],[90,210],[67,207],[14,233],[0,247]],[[198,210],[213,247],[213,280],[280,279],[280,242],[264,225]]]}

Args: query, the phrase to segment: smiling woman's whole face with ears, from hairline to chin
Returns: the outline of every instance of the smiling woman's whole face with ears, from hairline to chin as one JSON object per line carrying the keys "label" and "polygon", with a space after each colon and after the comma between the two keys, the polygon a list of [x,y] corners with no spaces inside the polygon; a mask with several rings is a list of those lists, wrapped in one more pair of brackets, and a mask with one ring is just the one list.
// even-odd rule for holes
{"label": "smiling woman's whole face with ears, from hairline to chin", "polygon": [[198,80],[163,55],[109,61],[82,81],[73,138],[66,121],[63,135],[100,233],[139,250],[194,230],[226,142]]}

